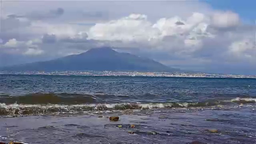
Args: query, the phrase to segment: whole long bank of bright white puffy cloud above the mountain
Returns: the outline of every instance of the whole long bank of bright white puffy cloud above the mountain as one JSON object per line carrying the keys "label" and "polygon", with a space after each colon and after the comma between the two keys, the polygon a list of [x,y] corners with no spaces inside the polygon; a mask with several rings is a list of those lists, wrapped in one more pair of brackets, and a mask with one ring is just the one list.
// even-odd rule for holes
{"label": "whole long bank of bright white puffy cloud above the mountain", "polygon": [[[126,43],[140,42],[146,43],[148,46],[156,46],[161,45],[165,37],[172,36],[172,38],[175,37],[183,41],[180,46],[200,48],[202,38],[214,37],[214,34],[207,32],[209,20],[209,16],[192,13],[192,16],[187,19],[182,19],[179,16],[160,18],[153,24],[144,14],[130,14],[118,20],[92,26],[88,32],[88,39],[120,40]],[[173,45],[174,39],[169,40],[169,43]],[[180,40],[177,42],[180,43]]]}

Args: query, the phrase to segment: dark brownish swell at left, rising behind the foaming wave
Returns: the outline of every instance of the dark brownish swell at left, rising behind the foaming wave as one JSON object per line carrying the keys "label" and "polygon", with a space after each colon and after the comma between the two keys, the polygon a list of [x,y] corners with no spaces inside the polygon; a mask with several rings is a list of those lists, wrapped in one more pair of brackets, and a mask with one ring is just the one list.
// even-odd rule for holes
{"label": "dark brownish swell at left, rising behind the foaming wave", "polygon": [[68,93],[34,93],[24,96],[0,95],[0,102],[6,104],[92,104],[101,102],[120,102],[126,96],[115,96],[98,92],[92,94],[68,94]]}

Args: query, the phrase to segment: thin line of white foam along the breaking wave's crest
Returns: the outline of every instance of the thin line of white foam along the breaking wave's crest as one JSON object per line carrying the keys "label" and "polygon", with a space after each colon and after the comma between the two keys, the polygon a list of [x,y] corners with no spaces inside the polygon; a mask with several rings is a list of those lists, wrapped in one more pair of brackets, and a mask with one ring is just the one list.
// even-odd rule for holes
{"label": "thin line of white foam along the breaking wave's crest", "polygon": [[[256,98],[234,98],[232,100],[226,100],[222,102],[256,102]],[[62,104],[4,104],[0,103],[0,108],[5,108],[5,109],[15,109],[15,108],[41,108],[41,109],[50,109],[50,108],[62,108],[62,109],[71,109],[71,108],[76,108],[76,109],[81,109],[85,110],[84,108],[89,108],[92,110],[109,110],[109,109],[141,109],[141,108],[146,108],[146,109],[154,109],[154,108],[187,108],[187,107],[198,107],[198,106],[218,106],[219,102],[183,102],[183,103],[178,103],[178,102],[168,102],[168,103],[115,103],[115,104],[73,104],[73,105],[62,105]],[[89,110],[88,109],[88,110]]]}

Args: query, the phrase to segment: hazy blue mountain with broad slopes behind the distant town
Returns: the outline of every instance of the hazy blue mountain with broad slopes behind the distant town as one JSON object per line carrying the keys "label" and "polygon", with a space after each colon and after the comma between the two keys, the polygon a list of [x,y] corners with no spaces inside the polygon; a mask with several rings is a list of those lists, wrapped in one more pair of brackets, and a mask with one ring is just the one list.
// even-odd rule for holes
{"label": "hazy blue mountain with broad slopes behind the distant town", "polygon": [[2,71],[140,71],[176,72],[154,60],[128,53],[120,53],[108,47],[93,48],[81,54],[65,56],[55,60],[33,62],[0,68]]}

